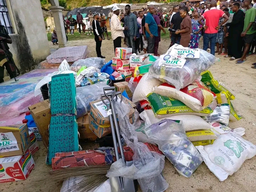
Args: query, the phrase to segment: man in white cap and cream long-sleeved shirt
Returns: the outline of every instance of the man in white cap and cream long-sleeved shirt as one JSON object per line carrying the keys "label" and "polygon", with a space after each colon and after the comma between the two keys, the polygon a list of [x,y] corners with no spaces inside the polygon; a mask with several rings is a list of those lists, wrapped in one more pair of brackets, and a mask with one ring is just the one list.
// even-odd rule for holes
{"label": "man in white cap and cream long-sleeved shirt", "polygon": [[128,30],[128,27],[122,27],[121,22],[118,18],[120,9],[117,6],[113,6],[113,16],[111,17],[111,36],[114,43],[114,52],[116,53],[116,48],[121,47],[122,37],[124,37],[123,30]]}

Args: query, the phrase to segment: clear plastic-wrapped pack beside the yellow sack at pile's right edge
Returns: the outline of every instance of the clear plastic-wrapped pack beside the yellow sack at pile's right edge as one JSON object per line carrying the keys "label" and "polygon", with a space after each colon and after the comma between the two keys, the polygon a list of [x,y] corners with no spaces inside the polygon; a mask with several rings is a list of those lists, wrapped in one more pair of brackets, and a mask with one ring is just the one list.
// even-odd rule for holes
{"label": "clear plastic-wrapped pack beside the yellow sack at pile's right edge", "polygon": [[211,114],[209,114],[206,117],[203,117],[203,119],[207,123],[220,122],[227,126],[229,124],[229,112],[230,112],[229,104],[222,103],[222,104],[219,104]]}

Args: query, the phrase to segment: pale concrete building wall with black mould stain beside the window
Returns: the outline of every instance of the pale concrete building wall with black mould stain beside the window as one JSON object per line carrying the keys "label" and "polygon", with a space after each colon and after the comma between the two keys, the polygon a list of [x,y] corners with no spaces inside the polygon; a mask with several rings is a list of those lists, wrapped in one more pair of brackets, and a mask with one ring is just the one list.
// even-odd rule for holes
{"label": "pale concrete building wall with black mould stain beside the window", "polygon": [[6,0],[15,34],[10,51],[21,73],[32,70],[50,54],[39,0]]}

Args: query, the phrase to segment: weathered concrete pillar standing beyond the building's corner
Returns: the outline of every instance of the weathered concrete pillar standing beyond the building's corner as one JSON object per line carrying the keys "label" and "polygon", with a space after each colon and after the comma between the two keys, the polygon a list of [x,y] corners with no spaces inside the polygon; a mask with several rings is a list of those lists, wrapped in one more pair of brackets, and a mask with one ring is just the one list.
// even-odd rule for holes
{"label": "weathered concrete pillar standing beyond the building's corner", "polygon": [[62,17],[62,10],[64,10],[64,7],[51,6],[49,7],[49,9],[53,13],[53,19],[55,23],[56,32],[57,32],[59,47],[60,48],[66,47],[68,46],[68,44],[66,41],[66,32],[65,32],[63,17]]}

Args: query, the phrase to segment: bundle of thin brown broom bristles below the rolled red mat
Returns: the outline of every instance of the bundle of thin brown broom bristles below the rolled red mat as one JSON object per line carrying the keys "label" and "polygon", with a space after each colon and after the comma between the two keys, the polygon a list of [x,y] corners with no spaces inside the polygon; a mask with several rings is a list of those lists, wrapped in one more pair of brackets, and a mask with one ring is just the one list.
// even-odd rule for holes
{"label": "bundle of thin brown broom bristles below the rolled red mat", "polygon": [[[107,171],[110,165],[90,165],[83,167],[66,167],[60,170],[48,171],[46,178],[43,178],[39,183],[60,182],[69,177],[83,176],[79,183],[69,188],[69,192],[89,192],[95,190],[99,185],[102,185],[108,177]],[[59,188],[60,189],[60,188]],[[59,190],[58,189],[58,190]],[[65,192],[65,191],[64,191]]]}

